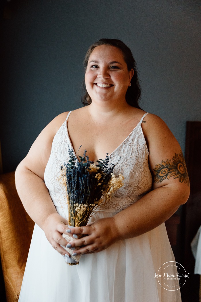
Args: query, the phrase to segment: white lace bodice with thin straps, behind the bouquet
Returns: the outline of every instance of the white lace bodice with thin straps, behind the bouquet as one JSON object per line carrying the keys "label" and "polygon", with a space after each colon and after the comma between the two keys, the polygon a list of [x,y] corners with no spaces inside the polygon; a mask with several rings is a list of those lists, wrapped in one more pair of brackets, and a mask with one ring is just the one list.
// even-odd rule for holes
{"label": "white lace bodice with thin straps, behind the bouquet", "polygon": [[[114,173],[124,175],[124,186],[116,191],[104,207],[101,207],[101,211],[120,212],[151,190],[149,151],[141,126],[145,115],[121,145],[110,154],[110,162],[116,164]],[[61,165],[69,159],[68,146],[73,148],[68,135],[67,120],[68,117],[53,139],[51,154],[45,169],[45,183],[52,201],[55,206],[63,208],[67,207],[65,189],[58,178],[61,174]]]}

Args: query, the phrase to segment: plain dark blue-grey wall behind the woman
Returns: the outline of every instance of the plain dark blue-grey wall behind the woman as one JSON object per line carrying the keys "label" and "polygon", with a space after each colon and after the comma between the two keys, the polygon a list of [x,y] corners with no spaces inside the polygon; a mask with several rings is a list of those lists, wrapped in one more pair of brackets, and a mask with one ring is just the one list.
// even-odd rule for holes
{"label": "plain dark blue-grey wall behind the woman", "polygon": [[14,170],[43,127],[81,106],[82,62],[102,38],[137,61],[141,107],[162,117],[185,151],[187,120],[201,120],[199,5],[193,0],[11,0],[2,20],[0,139]]}

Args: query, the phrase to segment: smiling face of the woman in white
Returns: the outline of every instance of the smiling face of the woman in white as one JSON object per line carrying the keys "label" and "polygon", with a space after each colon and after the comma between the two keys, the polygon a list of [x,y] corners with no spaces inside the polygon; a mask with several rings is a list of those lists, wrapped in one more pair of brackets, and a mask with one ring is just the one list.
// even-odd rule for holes
{"label": "smiling face of the woman in white", "polygon": [[85,73],[86,90],[93,100],[126,101],[133,69],[128,71],[123,53],[114,46],[97,46],[91,53]]}

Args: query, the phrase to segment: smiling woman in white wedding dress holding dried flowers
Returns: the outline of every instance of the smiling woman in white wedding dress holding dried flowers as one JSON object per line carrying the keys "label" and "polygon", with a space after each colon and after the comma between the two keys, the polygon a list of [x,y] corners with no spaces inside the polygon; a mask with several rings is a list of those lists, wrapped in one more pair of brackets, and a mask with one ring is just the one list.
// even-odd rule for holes
{"label": "smiling woman in white wedding dress holding dried flowers", "polygon": [[[17,191],[36,223],[19,301],[181,301],[155,278],[174,261],[164,221],[189,196],[181,148],[159,117],[139,108],[135,61],[123,42],[94,43],[85,67],[87,106],[55,117],[16,170]],[[109,204],[74,229],[58,181],[68,146],[77,156],[86,149],[92,161],[109,153],[125,178]],[[61,257],[73,261],[62,233],[86,235],[70,245],[80,246],[79,265]]]}

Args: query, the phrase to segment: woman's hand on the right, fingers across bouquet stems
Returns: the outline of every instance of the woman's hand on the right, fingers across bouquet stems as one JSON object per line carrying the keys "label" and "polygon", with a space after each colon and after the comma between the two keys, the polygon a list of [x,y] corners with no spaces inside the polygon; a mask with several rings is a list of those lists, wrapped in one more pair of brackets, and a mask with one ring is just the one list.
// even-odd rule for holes
{"label": "woman's hand on the right, fingers across bouquet stems", "polygon": [[119,239],[118,230],[113,217],[96,220],[87,226],[71,228],[68,230],[68,233],[71,235],[85,235],[67,245],[68,248],[80,246],[73,255],[100,252]]}

